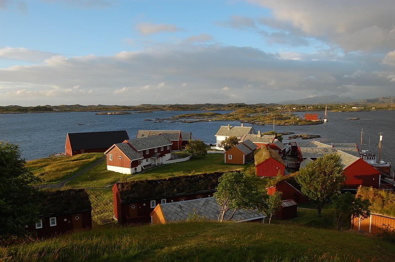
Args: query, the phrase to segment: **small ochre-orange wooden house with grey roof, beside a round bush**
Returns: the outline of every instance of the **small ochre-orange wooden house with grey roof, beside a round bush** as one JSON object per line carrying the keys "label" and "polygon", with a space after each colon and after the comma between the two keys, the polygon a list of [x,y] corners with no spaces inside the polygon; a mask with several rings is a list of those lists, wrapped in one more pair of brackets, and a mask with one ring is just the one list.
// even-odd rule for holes
{"label": "small ochre-orange wooden house with grey roof, beside a round bush", "polygon": [[239,145],[235,145],[224,153],[225,164],[246,164],[254,160],[254,151],[257,146],[250,140],[245,140]]}

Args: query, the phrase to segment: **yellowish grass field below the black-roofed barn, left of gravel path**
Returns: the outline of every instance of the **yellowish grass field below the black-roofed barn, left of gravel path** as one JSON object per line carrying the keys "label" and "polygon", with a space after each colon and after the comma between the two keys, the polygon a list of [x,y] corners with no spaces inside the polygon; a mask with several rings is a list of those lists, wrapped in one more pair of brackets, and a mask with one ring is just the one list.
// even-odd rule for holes
{"label": "yellowish grass field below the black-roofed barn, left of gravel path", "polygon": [[[60,182],[101,158],[103,153],[86,153],[76,156],[56,156],[28,161],[28,167],[34,175],[42,178],[45,184]],[[40,175],[42,174],[42,175]],[[41,184],[42,184],[41,183]]]}

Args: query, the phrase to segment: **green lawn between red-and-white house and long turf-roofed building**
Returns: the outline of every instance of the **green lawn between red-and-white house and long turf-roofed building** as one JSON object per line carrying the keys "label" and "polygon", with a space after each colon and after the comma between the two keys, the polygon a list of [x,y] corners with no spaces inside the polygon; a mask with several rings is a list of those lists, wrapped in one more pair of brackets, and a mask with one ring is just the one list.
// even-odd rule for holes
{"label": "green lawn between red-and-white house and long turf-roofed building", "polygon": [[130,180],[141,179],[160,179],[180,175],[192,175],[201,173],[222,172],[230,170],[243,170],[251,167],[252,164],[232,165],[224,163],[224,154],[207,154],[206,156],[197,156],[188,161],[161,165],[147,172],[137,174]]}

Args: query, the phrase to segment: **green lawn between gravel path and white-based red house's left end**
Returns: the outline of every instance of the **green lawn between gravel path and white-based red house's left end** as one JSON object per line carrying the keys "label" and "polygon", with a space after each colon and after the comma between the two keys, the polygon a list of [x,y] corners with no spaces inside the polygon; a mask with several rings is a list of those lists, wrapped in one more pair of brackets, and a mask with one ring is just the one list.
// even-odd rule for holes
{"label": "green lawn between gravel path and white-based red house's left end", "polygon": [[103,187],[108,184],[114,184],[123,175],[117,172],[107,170],[107,162],[103,161],[96,167],[88,170],[79,177],[66,183],[66,186],[72,188],[90,188],[90,187]]}

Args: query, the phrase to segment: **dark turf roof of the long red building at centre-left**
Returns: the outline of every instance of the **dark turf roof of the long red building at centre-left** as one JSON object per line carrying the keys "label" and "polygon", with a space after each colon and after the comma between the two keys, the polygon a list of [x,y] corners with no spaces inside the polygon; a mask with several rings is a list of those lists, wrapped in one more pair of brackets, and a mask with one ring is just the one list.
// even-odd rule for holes
{"label": "dark turf roof of the long red building at centre-left", "polygon": [[137,180],[117,183],[122,201],[154,199],[204,190],[214,190],[223,173],[169,177],[157,180]]}

